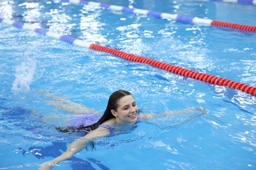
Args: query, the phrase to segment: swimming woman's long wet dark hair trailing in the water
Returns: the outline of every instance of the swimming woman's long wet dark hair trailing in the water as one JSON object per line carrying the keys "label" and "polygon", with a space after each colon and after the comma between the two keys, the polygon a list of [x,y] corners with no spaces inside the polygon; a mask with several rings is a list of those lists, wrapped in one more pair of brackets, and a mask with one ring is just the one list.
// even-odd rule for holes
{"label": "swimming woman's long wet dark hair trailing in the water", "polygon": [[56,127],[56,129],[64,133],[67,133],[67,132],[88,133],[89,131],[93,131],[94,129],[98,128],[98,126],[100,126],[100,124],[102,124],[103,122],[110,120],[111,118],[114,118],[114,115],[112,114],[111,110],[117,111],[119,99],[121,99],[122,97],[125,97],[126,95],[131,95],[131,93],[125,90],[117,90],[116,92],[112,93],[112,95],[110,95],[110,98],[108,99],[108,105],[106,107],[104,114],[95,124],[91,124],[85,127],[65,127],[65,128]]}

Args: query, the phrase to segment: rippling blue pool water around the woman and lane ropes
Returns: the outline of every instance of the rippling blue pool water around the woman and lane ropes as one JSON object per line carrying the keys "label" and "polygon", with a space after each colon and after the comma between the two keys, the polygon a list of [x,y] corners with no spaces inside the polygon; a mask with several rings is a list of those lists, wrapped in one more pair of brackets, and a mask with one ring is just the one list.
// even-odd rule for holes
{"label": "rippling blue pool water around the woman and lane ropes", "polygon": [[[100,3],[256,25],[253,5]],[[0,8],[1,18],[256,86],[255,32],[63,1],[3,1]],[[0,169],[36,169],[78,137],[55,131],[74,115],[45,103],[51,97],[44,92],[104,112],[109,95],[119,89],[133,93],[145,113],[203,107],[207,114],[142,122],[131,133],[100,139],[96,150],[83,150],[54,169],[255,169],[255,96],[7,24],[0,30]]]}

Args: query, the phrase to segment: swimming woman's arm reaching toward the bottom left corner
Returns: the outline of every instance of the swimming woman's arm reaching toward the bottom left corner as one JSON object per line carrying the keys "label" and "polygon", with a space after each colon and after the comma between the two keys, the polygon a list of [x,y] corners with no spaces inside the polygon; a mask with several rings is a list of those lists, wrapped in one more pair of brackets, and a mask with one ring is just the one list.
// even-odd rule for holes
{"label": "swimming woman's arm reaching toward the bottom left corner", "polygon": [[110,132],[106,128],[99,127],[98,129],[91,131],[81,139],[78,139],[77,141],[71,143],[70,146],[68,146],[68,149],[54,160],[46,161],[45,163],[41,164],[39,170],[51,169],[60,161],[67,160],[68,158],[74,156],[74,154],[76,154],[77,152],[83,150],[83,148],[87,147],[93,139],[106,137],[107,135],[110,135]]}

